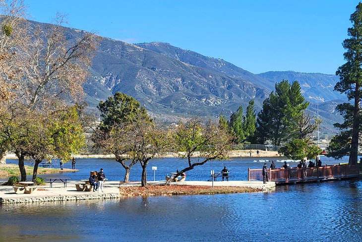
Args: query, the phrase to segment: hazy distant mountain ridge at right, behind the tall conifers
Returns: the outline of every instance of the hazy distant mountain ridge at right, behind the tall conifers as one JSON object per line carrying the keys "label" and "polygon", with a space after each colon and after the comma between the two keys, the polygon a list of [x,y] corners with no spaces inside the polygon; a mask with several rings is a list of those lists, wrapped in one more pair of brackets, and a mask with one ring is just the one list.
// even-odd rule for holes
{"label": "hazy distant mountain ridge at right, behind the tall conifers", "polygon": [[336,75],[326,75],[321,73],[301,73],[301,72],[266,72],[258,74],[259,77],[273,82],[281,80],[299,81],[304,97],[310,102],[325,102],[331,100],[347,100],[346,95],[334,91],[334,85],[339,81]]}

